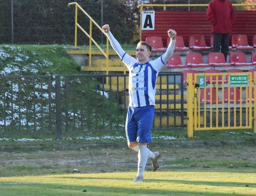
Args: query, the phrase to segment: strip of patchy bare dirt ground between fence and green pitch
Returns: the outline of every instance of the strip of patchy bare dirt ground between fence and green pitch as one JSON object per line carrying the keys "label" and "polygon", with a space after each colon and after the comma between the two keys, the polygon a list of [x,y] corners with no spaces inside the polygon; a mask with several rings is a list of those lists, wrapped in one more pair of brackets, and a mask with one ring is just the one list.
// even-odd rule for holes
{"label": "strip of patchy bare dirt ground between fence and green pitch", "polygon": [[[67,172],[136,172],[137,152],[126,144],[104,145],[69,145],[66,148],[49,150],[38,147],[23,147],[15,152],[8,148],[0,151],[0,176],[43,175]],[[209,145],[209,146],[148,146],[152,151],[159,151],[159,170],[197,168],[254,167],[256,166],[255,145]],[[240,165],[242,164],[242,165]],[[217,166],[216,166],[217,165]],[[148,160],[146,170],[150,171]]]}

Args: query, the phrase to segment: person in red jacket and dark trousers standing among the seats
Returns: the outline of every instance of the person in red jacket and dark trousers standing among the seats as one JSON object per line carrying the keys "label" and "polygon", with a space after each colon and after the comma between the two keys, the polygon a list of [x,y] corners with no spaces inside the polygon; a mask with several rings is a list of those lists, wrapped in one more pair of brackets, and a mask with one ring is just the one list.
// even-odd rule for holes
{"label": "person in red jacket and dark trousers standing among the seats", "polygon": [[229,0],[212,0],[207,8],[206,17],[212,24],[213,52],[221,52],[227,61],[228,46],[235,14]]}

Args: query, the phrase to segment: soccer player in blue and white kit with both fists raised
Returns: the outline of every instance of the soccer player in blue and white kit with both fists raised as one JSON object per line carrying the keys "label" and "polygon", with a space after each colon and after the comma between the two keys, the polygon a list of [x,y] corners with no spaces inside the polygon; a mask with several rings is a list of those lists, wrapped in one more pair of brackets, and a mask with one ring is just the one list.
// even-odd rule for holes
{"label": "soccer player in blue and white kit with both fists raised", "polygon": [[152,162],[153,171],[159,168],[159,152],[152,152],[147,143],[152,142],[151,129],[155,111],[156,78],[159,71],[172,56],[175,46],[176,32],[168,30],[171,42],[166,52],[153,61],[149,61],[152,47],[147,42],[139,42],[136,48],[136,59],[128,55],[105,24],[102,29],[106,33],[111,46],[129,70],[129,107],[126,117],[125,131],[128,147],[138,152],[138,173],[133,182],[144,180],[144,170],[148,158]]}

